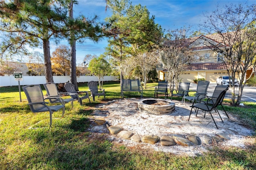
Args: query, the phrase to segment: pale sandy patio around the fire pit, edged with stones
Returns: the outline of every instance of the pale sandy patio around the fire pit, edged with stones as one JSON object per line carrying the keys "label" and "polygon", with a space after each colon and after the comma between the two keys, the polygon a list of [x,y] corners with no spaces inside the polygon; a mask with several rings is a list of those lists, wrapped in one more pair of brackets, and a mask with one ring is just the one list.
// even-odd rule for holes
{"label": "pale sandy patio around the fire pit, edged with stones", "polygon": [[[138,110],[139,100],[137,98],[119,99],[96,106],[97,109],[92,114],[94,116],[93,119],[104,119],[106,123],[104,125],[97,125],[92,120],[90,132],[92,134],[105,133],[109,140],[122,143],[127,147],[136,145],[140,148],[171,152],[173,154],[188,154],[190,156],[207,152],[208,148],[213,146],[246,148],[255,143],[255,139],[251,137],[255,132],[242,126],[239,119],[232,114],[228,114],[230,117],[228,119],[224,111],[219,111],[224,123],[222,123],[218,113],[212,113],[219,127],[217,129],[210,114],[206,113],[204,118],[203,111],[199,111],[197,117],[193,111],[190,121],[188,121],[191,107],[182,105],[180,101],[173,100],[175,102],[175,111],[171,114],[151,115]],[[187,138],[187,136],[193,134],[202,140],[202,144],[193,146],[181,146],[178,144],[162,146],[160,142],[155,144],[138,143],[130,139],[120,138],[118,134],[110,134],[107,128],[108,125],[121,127],[123,130],[138,134],[140,138],[147,135],[159,136],[160,138],[172,135]],[[230,140],[224,140],[223,142],[214,142],[213,140],[212,144],[204,142],[205,134],[215,136],[218,133],[228,135]]]}

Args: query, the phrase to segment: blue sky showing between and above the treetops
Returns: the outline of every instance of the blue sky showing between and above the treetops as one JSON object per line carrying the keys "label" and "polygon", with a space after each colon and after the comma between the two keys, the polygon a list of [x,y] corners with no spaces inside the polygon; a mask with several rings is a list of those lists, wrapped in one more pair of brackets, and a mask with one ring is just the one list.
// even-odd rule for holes
{"label": "blue sky showing between and above the treetops", "polygon": [[[133,5],[141,4],[146,6],[150,16],[155,16],[155,23],[161,25],[165,30],[174,30],[182,26],[192,26],[194,30],[198,29],[198,24],[205,18],[204,12],[212,12],[219,4],[221,7],[225,4],[238,4],[238,0],[130,0]],[[97,15],[99,21],[111,15],[110,11],[105,12],[105,0],[78,0],[79,4],[74,6],[74,15],[83,14],[86,17]],[[249,4],[256,3],[256,0],[249,0]],[[68,45],[65,41],[60,44]],[[58,44],[58,45],[60,45]],[[86,54],[97,55],[104,53],[104,47],[108,44],[107,40],[101,40],[94,43],[86,40],[83,44],[76,44],[76,63],[82,63]],[[56,45],[56,46],[58,46]],[[51,52],[54,51],[54,47]]]}

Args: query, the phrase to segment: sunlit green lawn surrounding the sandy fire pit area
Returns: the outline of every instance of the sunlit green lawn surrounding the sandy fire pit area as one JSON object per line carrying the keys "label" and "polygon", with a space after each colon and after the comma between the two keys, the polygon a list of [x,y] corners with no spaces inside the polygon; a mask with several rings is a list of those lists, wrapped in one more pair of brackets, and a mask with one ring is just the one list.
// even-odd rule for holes
{"label": "sunlit green lawn surrounding the sandy fire pit area", "polygon": [[[154,96],[154,86],[149,83],[144,97]],[[79,90],[88,90],[86,83],[79,83]],[[43,93],[46,94],[44,87]],[[120,99],[118,82],[104,82],[106,101]],[[134,96],[138,97],[138,96]],[[256,169],[256,144],[244,148],[213,148],[195,157],[176,156],[141,148],[114,144],[104,134],[91,135],[87,131],[92,121],[95,105],[104,103],[103,97],[88,103],[77,101],[71,109],[66,104],[64,118],[55,112],[52,128],[28,129],[49,126],[48,113],[32,113],[24,92],[22,102],[17,86],[0,87],[0,167],[1,169],[104,169],[104,170],[171,170],[171,169]],[[226,111],[235,113],[244,123],[256,129],[256,103],[244,103],[246,108],[225,106]],[[255,136],[252,137],[255,139]]]}

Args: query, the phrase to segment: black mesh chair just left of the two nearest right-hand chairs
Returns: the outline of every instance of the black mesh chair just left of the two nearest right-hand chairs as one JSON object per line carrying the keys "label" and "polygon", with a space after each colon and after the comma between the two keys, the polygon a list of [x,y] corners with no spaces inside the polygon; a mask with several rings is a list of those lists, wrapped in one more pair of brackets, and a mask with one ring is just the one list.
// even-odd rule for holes
{"label": "black mesh chair just left of the two nearest right-hand chairs", "polygon": [[200,100],[202,98],[205,98],[209,83],[210,81],[198,81],[196,91],[194,91],[196,92],[194,93],[195,96],[189,96],[188,93],[191,91],[186,91],[185,95],[182,97],[184,104],[186,105],[185,99],[190,101],[190,103],[193,103],[194,100]]}

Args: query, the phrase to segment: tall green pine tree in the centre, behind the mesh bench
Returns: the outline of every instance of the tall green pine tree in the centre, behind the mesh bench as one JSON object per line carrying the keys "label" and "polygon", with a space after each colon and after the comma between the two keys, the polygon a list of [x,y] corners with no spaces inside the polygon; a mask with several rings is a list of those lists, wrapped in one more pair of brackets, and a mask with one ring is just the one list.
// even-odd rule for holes
{"label": "tall green pine tree in the centre, behind the mesh bench", "polygon": [[125,58],[135,57],[138,53],[152,51],[158,47],[163,31],[161,26],[155,24],[154,16],[150,18],[145,6],[133,6],[129,0],[112,0],[107,4],[112,16],[106,20],[114,22],[107,32],[110,39],[106,55],[115,59],[123,79],[122,63]]}

